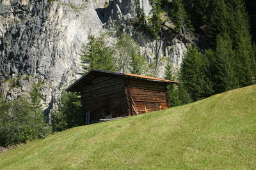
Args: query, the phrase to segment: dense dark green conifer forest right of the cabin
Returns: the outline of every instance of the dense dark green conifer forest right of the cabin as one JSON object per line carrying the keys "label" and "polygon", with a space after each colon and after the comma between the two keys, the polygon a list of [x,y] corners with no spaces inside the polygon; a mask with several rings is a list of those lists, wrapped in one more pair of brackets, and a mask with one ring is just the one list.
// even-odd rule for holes
{"label": "dense dark green conifer forest right of the cabin", "polygon": [[[174,29],[184,35],[184,27],[207,39],[204,45],[184,39],[190,47],[177,79],[193,101],[255,83],[255,46],[243,0],[174,0],[169,6]],[[181,104],[178,89],[169,87],[171,105]]]}

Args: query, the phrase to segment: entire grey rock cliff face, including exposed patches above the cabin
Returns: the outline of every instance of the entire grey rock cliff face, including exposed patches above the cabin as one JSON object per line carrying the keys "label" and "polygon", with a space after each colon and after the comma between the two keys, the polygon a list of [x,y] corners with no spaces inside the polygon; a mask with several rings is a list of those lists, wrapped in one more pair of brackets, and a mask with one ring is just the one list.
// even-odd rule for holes
{"label": "entire grey rock cliff face, including exposed patches above the cabin", "polygon": [[[148,0],[140,7],[150,15]],[[116,25],[138,41],[148,62],[169,57],[179,67],[186,46],[136,32],[129,20],[136,17],[134,0],[0,0],[0,94],[8,99],[29,91],[40,81],[45,109],[51,110],[80,68],[81,46],[88,35],[99,35]],[[164,62],[157,75],[163,76]]]}

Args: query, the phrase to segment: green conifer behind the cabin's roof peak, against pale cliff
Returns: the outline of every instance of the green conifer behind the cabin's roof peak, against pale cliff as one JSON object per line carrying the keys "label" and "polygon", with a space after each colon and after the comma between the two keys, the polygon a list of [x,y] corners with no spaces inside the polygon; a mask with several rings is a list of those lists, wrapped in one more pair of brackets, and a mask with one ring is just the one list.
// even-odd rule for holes
{"label": "green conifer behind the cabin's roof peak, against pale cliff", "polygon": [[113,48],[107,46],[103,37],[96,38],[89,36],[89,43],[83,45],[81,62],[83,72],[90,69],[103,69],[106,71],[116,71],[115,60],[113,58]]}

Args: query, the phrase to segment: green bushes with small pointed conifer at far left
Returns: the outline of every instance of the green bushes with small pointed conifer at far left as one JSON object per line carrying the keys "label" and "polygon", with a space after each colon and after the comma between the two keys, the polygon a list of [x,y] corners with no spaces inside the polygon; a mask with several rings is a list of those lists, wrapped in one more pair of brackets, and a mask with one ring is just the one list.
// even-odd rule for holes
{"label": "green bushes with small pointed conifer at far left", "polygon": [[49,131],[41,105],[38,85],[33,84],[29,97],[0,101],[0,146],[44,138]]}

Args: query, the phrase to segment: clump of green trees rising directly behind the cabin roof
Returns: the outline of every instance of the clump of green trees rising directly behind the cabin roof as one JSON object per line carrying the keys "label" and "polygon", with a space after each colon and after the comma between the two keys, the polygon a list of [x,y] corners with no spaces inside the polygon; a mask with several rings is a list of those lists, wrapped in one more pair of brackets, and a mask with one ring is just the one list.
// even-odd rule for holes
{"label": "clump of green trees rising directly behind the cabin roof", "polygon": [[107,45],[106,34],[99,37],[89,36],[88,44],[81,54],[82,71],[102,69],[125,73],[141,74],[145,69],[145,58],[139,45],[125,32],[117,32],[115,46]]}

